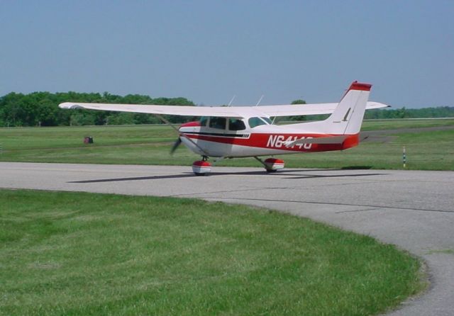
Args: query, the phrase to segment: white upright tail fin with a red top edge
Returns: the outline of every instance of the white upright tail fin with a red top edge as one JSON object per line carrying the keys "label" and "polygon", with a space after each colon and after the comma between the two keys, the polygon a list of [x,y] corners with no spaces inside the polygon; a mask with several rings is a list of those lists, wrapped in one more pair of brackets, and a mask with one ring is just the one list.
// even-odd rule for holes
{"label": "white upright tail fin with a red top edge", "polygon": [[353,135],[360,132],[371,86],[372,84],[353,81],[333,114],[323,120],[326,132],[341,135]]}

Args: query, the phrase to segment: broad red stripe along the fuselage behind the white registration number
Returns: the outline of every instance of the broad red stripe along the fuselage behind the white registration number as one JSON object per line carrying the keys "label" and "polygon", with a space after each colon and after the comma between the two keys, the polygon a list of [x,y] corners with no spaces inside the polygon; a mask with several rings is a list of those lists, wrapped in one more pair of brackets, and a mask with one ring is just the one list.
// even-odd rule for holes
{"label": "broad red stripe along the fuselage behind the white registration number", "polygon": [[332,150],[343,150],[355,147],[359,144],[358,134],[347,135],[342,144],[298,144],[286,147],[286,142],[292,142],[301,138],[330,137],[339,135],[319,135],[319,134],[260,134],[253,133],[250,137],[226,137],[213,135],[199,135],[185,133],[187,137],[194,140],[205,140],[207,142],[218,142],[223,144],[239,145],[246,147],[260,147],[266,149],[281,149],[289,152],[327,152]]}

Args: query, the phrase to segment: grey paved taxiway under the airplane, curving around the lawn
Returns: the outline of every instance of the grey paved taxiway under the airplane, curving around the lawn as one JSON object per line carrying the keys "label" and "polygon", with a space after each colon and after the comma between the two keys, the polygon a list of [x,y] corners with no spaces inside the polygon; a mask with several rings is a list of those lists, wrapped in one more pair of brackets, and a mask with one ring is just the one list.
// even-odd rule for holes
{"label": "grey paved taxiway under the airplane, curving around the lawn", "polygon": [[431,288],[391,315],[454,315],[454,172],[0,162],[0,188],[204,198],[265,206],[397,244],[428,264]]}

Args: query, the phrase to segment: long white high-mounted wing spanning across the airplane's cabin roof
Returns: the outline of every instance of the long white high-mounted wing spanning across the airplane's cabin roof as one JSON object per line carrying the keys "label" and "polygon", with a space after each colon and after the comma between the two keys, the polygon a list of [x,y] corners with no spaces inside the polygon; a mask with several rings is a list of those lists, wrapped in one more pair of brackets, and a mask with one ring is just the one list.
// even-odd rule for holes
{"label": "long white high-mounted wing spanning across the airplane's cabin roof", "polygon": [[[60,108],[84,108],[87,110],[149,113],[157,115],[219,116],[247,118],[253,116],[292,116],[330,114],[338,103],[287,104],[280,106],[157,106],[112,103],[60,103]],[[366,109],[386,108],[384,103],[367,102]]]}

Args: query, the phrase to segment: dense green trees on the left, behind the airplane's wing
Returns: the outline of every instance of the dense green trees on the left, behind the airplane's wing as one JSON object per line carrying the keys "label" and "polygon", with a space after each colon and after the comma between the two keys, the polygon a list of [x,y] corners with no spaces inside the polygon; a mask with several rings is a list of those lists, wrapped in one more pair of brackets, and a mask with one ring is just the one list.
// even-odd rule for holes
{"label": "dense green trees on the left, behind the airplane's wing", "polygon": [[[109,92],[77,93],[74,91],[11,92],[0,97],[0,126],[55,126],[55,125],[105,125],[105,124],[150,124],[162,123],[155,115],[143,113],[120,113],[110,111],[67,111],[58,108],[62,102],[162,104],[194,106],[187,98],[151,98],[140,94],[118,96]],[[165,116],[172,123],[182,123],[192,118]]]}

